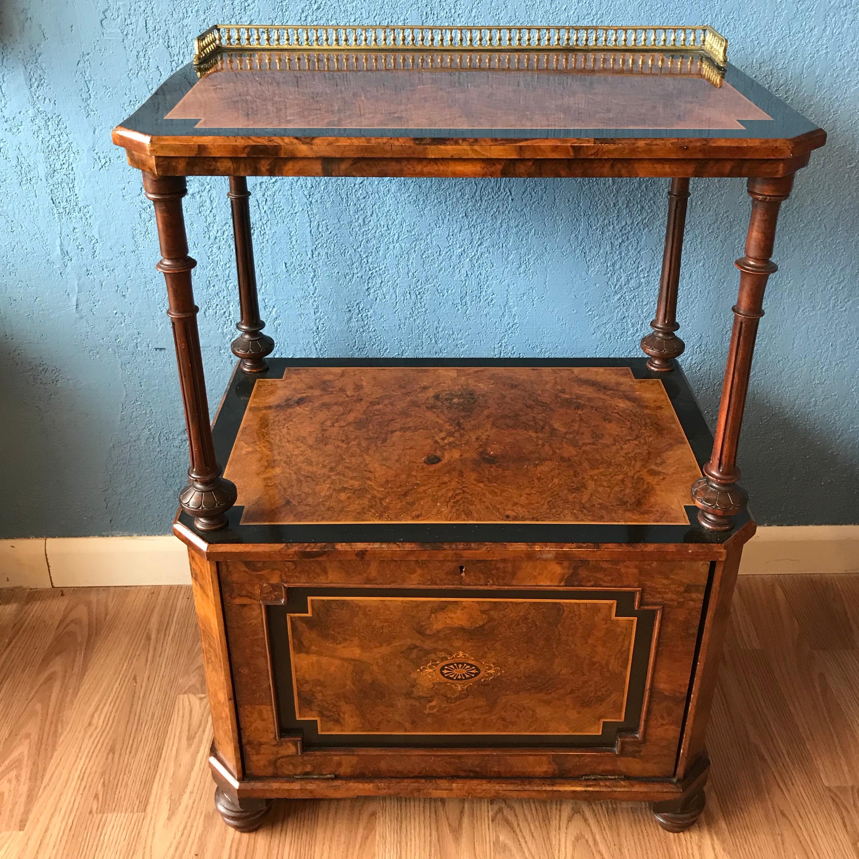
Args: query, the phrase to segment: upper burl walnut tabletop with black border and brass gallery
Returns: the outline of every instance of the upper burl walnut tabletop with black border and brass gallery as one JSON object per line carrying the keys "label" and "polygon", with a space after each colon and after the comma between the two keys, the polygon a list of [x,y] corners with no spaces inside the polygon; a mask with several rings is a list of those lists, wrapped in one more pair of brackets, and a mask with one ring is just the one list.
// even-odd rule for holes
{"label": "upper burl walnut tabletop with black border and brass gallery", "polygon": [[219,25],[114,141],[155,175],[794,172],[823,132],[722,42],[710,27]]}

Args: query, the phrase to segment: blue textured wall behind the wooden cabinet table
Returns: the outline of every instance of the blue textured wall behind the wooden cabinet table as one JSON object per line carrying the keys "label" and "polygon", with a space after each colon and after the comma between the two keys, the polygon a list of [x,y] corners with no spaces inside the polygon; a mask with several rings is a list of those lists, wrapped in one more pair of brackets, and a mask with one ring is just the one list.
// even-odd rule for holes
{"label": "blue textured wall behind the wooden cabinet table", "polygon": [[[186,63],[192,37],[215,19],[667,21],[721,30],[734,64],[830,141],[783,209],[782,271],[771,280],[740,450],[752,509],[768,524],[859,521],[853,0],[575,9],[558,0],[418,9],[402,0],[3,0],[0,536],[168,530],[186,468],[172,338],[151,205],[110,131]],[[217,402],[237,314],[226,180],[189,185]],[[251,186],[263,318],[282,355],[635,355],[653,314],[665,180]],[[712,421],[749,201],[742,180],[696,181],[692,194],[680,334]]]}

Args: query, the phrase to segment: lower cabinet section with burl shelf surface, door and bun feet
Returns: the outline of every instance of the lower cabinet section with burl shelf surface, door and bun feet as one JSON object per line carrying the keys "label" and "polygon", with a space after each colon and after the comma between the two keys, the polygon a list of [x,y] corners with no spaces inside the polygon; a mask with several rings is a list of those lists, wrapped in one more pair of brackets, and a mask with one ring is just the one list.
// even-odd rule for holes
{"label": "lower cabinet section with burl shelf surface, door and bun feet", "polygon": [[754,524],[698,523],[712,436],[641,359],[298,360],[236,372],[228,527],[181,513],[216,802],[558,796],[704,808]]}

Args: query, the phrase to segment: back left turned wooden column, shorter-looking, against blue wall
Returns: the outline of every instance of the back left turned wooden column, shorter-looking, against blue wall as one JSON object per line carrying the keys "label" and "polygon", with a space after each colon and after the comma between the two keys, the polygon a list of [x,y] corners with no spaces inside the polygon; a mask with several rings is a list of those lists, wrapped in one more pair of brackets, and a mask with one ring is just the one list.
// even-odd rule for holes
{"label": "back left turned wooden column, shorter-looking, against blue wall", "polygon": [[235,327],[241,335],[230,344],[233,354],[240,359],[239,366],[245,373],[263,373],[268,369],[265,356],[274,350],[274,340],[262,334],[265,322],[259,319],[257,297],[257,274],[253,265],[253,240],[251,238],[251,211],[247,201],[247,179],[244,176],[229,177],[227,194],[233,208],[233,236],[235,239],[235,267],[239,275],[239,304],[241,321]]}

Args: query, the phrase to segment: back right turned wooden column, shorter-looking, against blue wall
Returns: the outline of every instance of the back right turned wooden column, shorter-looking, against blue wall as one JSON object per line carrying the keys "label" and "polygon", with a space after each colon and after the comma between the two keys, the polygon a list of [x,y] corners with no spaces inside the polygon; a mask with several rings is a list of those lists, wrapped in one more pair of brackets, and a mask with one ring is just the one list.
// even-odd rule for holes
{"label": "back right turned wooden column, shorter-looking, against blue wall", "polygon": [[642,338],[642,349],[649,355],[647,365],[658,373],[674,369],[673,359],[683,354],[684,342],[674,333],[677,324],[677,286],[680,282],[680,257],[683,253],[683,231],[686,225],[686,201],[689,180],[673,179],[668,191],[668,223],[665,230],[665,253],[656,318],[650,323],[653,332]]}

